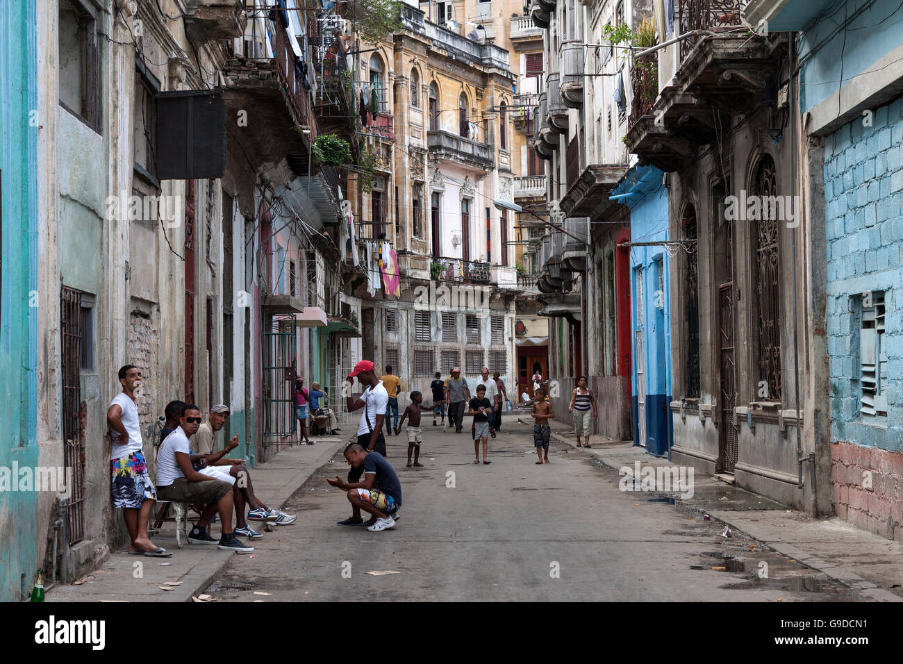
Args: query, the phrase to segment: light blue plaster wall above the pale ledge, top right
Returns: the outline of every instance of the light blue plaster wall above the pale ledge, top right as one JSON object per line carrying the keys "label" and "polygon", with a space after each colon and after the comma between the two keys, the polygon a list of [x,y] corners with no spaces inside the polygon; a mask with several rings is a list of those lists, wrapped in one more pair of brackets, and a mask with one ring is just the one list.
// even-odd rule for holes
{"label": "light blue plaster wall above the pale ledge, top right", "polygon": [[[789,14],[792,5],[801,5],[805,0],[790,3],[785,12]],[[836,3],[837,11],[812,25],[802,35],[799,57],[804,59],[810,51],[834,32],[844,22],[844,16],[852,16],[867,3],[867,0],[849,0]],[[815,55],[805,61],[800,70],[800,106],[803,111],[820,104],[830,97],[841,85],[846,85],[879,61],[889,51],[900,45],[903,34],[903,11],[898,11],[899,0],[876,0],[867,10],[857,16],[847,27],[830,37]],[[802,29],[800,26],[797,29]]]}

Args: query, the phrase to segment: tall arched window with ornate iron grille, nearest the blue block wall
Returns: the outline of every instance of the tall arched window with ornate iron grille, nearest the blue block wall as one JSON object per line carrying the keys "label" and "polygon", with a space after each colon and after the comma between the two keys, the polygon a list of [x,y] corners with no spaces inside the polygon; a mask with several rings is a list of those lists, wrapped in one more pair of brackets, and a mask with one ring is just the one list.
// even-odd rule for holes
{"label": "tall arched window with ornate iron grille, nearest the blue block wall", "polygon": [[[759,201],[776,201],[777,178],[775,162],[768,156],[762,156],[756,170],[753,171],[752,192]],[[753,226],[753,265],[755,266],[753,294],[756,304],[755,329],[759,343],[759,385],[764,381],[768,385],[768,395],[757,398],[767,401],[779,401],[781,398],[781,326],[780,326],[780,289],[777,287],[780,269],[780,253],[777,236],[780,230],[777,210],[768,202],[760,206],[759,220]]]}

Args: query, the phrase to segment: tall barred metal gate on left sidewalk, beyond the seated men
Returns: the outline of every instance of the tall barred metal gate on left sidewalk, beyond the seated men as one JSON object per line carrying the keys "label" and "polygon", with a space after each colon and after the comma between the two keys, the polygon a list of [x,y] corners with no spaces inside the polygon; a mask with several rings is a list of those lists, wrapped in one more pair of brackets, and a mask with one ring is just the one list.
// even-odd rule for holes
{"label": "tall barred metal gate on left sidewalk, beyond the seated men", "polygon": [[[264,450],[298,441],[294,416],[296,332],[294,316],[271,319],[264,332]],[[307,380],[304,388],[310,388]],[[265,454],[267,455],[267,454]]]}

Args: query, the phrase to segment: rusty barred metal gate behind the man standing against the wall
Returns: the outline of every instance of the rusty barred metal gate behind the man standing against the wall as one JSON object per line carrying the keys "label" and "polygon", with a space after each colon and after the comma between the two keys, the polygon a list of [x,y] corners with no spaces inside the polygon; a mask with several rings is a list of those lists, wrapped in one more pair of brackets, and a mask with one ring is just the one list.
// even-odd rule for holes
{"label": "rusty barred metal gate behind the man standing against the wall", "polygon": [[62,336],[62,430],[66,468],[71,472],[66,535],[70,545],[85,537],[85,445],[81,428],[81,293],[63,287],[60,297]]}

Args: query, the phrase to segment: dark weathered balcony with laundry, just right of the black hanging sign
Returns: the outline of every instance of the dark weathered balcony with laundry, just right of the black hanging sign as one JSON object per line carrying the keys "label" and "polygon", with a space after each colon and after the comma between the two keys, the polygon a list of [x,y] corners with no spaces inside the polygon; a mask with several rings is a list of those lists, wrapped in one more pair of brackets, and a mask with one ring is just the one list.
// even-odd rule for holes
{"label": "dark weathered balcony with laundry, just right of the black hanging sign", "polygon": [[303,84],[282,21],[275,21],[273,58],[236,57],[223,68],[223,99],[230,117],[253,121],[232,135],[254,168],[287,160],[295,176],[307,176],[310,143],[317,136],[310,92]]}

